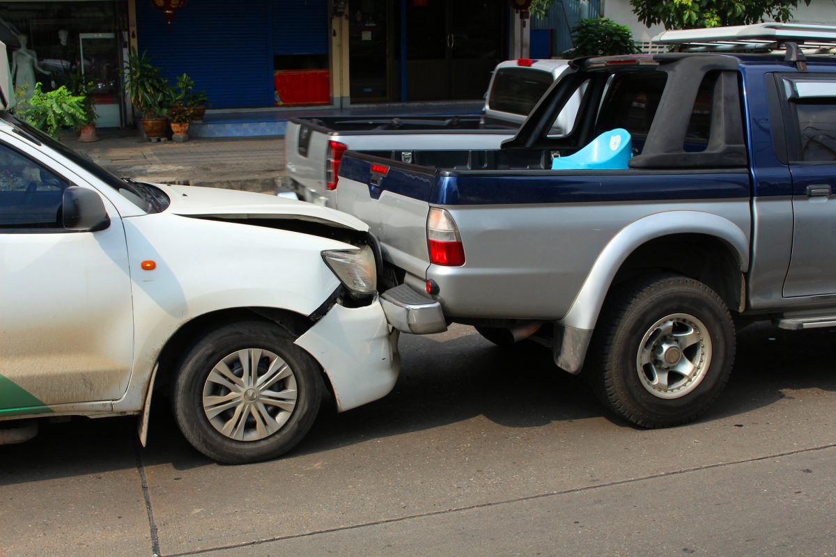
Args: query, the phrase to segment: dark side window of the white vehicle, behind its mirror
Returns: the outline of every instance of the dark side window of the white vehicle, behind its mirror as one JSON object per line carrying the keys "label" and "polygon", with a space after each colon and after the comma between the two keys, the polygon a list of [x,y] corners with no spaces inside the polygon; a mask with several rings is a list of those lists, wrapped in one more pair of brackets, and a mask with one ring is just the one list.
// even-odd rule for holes
{"label": "dark side window of the white vehicle, behind its mirror", "polygon": [[59,210],[69,184],[0,144],[0,229],[61,228]]}

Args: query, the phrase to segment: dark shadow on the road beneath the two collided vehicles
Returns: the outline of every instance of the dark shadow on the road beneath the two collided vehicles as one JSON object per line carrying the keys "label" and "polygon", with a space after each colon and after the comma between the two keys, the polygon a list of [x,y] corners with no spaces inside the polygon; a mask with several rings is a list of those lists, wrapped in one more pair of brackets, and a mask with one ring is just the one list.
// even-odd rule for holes
{"label": "dark shadow on the road beneath the two collided vehicles", "polygon": [[[579,377],[559,372],[535,345],[494,347],[475,332],[456,337],[402,337],[403,369],[387,397],[347,413],[323,408],[291,455],[365,443],[483,416],[507,428],[537,428],[604,416]],[[702,422],[767,407],[785,391],[836,391],[836,330],[787,332],[765,324],[742,329],[726,391]],[[608,418],[618,427],[630,427]],[[137,450],[135,418],[43,423],[38,438],[0,447],[0,485],[171,463],[177,470],[215,464],[177,430],[164,400],[152,410],[149,447]]]}

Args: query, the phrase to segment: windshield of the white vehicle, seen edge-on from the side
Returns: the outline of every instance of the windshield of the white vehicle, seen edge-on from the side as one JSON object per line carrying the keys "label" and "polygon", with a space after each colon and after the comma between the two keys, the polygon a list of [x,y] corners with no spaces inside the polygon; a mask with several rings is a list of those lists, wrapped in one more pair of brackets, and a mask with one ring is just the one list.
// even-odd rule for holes
{"label": "windshield of the white vehicle, seen edge-on from the side", "polygon": [[96,178],[104,182],[104,184],[109,185],[111,188],[118,191],[120,195],[125,197],[126,200],[130,200],[131,203],[139,207],[141,210],[144,210],[147,213],[159,213],[162,210],[166,210],[166,207],[169,204],[169,199],[168,196],[159,188],[155,188],[152,185],[143,184],[135,180],[123,180],[115,175],[112,175],[108,170],[104,170],[101,166],[96,165],[84,154],[78,153],[73,149],[69,149],[69,147],[62,144],[60,141],[56,141],[39,129],[35,129],[31,125],[18,120],[8,112],[0,112],[0,118],[6,120],[9,124],[12,124],[15,127],[15,131],[29,141],[37,144],[44,144],[50,149],[57,151],[59,154],[64,156],[64,158],[72,161],[76,165],[79,165],[91,175],[94,175]]}

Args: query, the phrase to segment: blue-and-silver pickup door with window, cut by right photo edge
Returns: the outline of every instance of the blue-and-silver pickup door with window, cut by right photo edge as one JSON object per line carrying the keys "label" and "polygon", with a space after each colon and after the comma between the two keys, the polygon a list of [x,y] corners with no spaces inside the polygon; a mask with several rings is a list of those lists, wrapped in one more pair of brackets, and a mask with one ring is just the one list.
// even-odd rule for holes
{"label": "blue-and-silver pickup door with window, cut by right photo edge", "polygon": [[793,255],[784,296],[836,293],[836,75],[783,78]]}

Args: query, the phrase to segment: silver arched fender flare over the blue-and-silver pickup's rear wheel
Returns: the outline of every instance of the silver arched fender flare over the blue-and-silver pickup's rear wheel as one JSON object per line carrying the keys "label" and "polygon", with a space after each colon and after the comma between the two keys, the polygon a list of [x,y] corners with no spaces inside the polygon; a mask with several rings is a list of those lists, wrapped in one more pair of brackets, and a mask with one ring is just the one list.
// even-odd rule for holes
{"label": "silver arched fender flare over the blue-and-silver pickup's rear wheel", "polygon": [[[558,325],[592,331],[609,286],[627,257],[648,241],[667,235],[702,234],[714,236],[732,247],[742,272],[749,266],[746,233],[719,215],[693,210],[672,210],[645,216],[619,230],[604,246],[584,281],[578,296]],[[585,351],[584,351],[585,352]]]}

